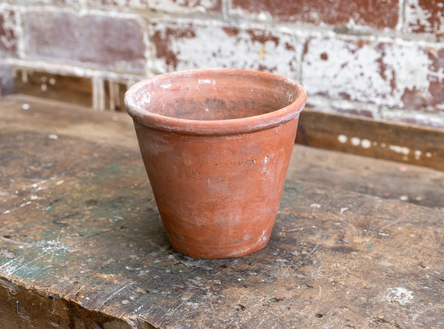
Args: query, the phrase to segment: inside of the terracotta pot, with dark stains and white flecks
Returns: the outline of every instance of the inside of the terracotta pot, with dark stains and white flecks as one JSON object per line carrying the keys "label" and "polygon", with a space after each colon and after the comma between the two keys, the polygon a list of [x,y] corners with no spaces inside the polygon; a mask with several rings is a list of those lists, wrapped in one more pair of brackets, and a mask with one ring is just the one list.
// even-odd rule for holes
{"label": "inside of the terracotta pot, with dark stains and white flecks", "polygon": [[187,120],[228,120],[274,112],[297,99],[284,78],[254,71],[174,72],[147,80],[134,94],[146,111]]}

